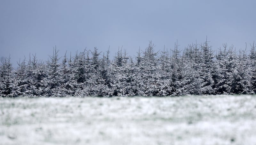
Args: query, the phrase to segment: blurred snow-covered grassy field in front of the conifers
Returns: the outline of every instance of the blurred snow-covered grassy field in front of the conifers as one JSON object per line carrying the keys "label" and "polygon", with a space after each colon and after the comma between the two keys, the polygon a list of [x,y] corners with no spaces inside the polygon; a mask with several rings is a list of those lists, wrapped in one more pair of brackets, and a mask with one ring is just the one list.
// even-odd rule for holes
{"label": "blurred snow-covered grassy field in front of the conifers", "polygon": [[0,144],[256,144],[256,96],[0,97]]}

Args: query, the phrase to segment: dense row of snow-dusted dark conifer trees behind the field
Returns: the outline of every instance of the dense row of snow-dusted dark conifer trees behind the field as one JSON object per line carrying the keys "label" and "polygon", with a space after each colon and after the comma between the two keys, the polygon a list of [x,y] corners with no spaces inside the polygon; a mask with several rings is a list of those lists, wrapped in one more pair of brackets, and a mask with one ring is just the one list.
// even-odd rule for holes
{"label": "dense row of snow-dusted dark conifer trees behind the field", "polygon": [[[251,44],[250,44],[251,45]],[[155,52],[150,41],[145,51],[131,57],[118,50],[113,60],[106,53],[76,52],[59,57],[56,47],[46,62],[36,56],[12,68],[10,57],[0,68],[0,96],[182,96],[187,94],[254,94],[255,44],[236,52],[233,46],[213,52],[204,44],[184,51]]]}

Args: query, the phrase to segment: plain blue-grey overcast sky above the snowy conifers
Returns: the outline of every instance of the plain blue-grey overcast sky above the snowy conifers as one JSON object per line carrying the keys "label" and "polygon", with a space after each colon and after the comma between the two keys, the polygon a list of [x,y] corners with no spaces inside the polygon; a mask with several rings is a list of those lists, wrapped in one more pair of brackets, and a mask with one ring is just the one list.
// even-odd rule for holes
{"label": "plain blue-grey overcast sky above the snowy conifers", "polygon": [[255,14],[255,0],[0,0],[0,57],[47,60],[55,45],[61,56],[109,46],[134,55],[149,40],[156,51],[176,40],[182,50],[206,36],[215,50],[244,49],[256,41]]}

